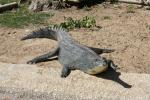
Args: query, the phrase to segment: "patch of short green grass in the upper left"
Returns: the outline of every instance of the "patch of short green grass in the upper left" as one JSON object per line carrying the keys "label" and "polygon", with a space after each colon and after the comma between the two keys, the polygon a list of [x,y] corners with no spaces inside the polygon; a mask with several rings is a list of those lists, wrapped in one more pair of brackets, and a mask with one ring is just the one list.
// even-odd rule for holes
{"label": "patch of short green grass in the upper left", "polygon": [[0,25],[11,28],[22,28],[30,24],[43,24],[45,19],[52,17],[54,14],[49,13],[32,13],[29,12],[25,5],[15,11],[5,12],[0,15]]}

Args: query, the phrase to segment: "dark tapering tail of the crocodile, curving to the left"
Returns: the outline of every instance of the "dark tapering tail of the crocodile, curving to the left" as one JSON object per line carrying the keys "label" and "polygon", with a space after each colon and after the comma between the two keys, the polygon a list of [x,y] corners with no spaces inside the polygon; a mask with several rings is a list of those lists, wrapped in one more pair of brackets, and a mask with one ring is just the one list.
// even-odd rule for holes
{"label": "dark tapering tail of the crocodile, curving to the left", "polygon": [[21,40],[33,39],[33,38],[49,38],[57,40],[57,33],[52,28],[40,28],[37,31],[33,31],[31,34],[21,38]]}

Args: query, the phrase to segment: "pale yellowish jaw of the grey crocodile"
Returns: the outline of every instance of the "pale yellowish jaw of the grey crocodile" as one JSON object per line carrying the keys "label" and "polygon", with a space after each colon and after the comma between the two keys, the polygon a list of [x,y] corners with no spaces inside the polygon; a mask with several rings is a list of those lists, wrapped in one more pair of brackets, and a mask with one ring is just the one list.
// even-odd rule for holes
{"label": "pale yellowish jaw of the grey crocodile", "polygon": [[101,72],[104,72],[107,68],[108,68],[108,66],[106,66],[106,65],[95,66],[92,69],[88,69],[86,71],[86,73],[91,74],[91,75],[95,75],[95,74],[99,74]]}

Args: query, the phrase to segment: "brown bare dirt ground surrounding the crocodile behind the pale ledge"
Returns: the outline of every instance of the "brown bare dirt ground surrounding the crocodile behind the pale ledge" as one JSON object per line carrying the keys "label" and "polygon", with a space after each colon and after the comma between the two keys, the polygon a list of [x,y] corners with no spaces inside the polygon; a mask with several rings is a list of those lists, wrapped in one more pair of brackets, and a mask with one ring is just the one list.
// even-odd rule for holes
{"label": "brown bare dirt ground surrounding the crocodile behind the pale ledge", "polygon": [[[52,11],[52,23],[64,21],[64,17],[76,19],[83,16],[94,16],[99,30],[76,29],[69,33],[81,44],[110,48],[116,51],[103,54],[112,59],[122,72],[150,73],[150,11],[134,6],[135,13],[127,13],[127,4],[95,5],[90,11],[69,8]],[[109,18],[107,17],[109,16]],[[106,18],[107,17],[107,18]],[[0,27],[0,62],[26,63],[28,60],[47,53],[57,45],[56,41],[34,39],[20,41],[20,38],[36,26],[24,29],[9,29]],[[57,60],[42,62],[38,66],[61,67]]]}

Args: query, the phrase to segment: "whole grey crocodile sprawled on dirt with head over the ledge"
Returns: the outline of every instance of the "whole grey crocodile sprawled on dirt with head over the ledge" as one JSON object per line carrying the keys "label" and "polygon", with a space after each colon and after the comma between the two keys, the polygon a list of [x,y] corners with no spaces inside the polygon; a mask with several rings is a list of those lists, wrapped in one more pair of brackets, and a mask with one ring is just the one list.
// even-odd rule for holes
{"label": "whole grey crocodile sprawled on dirt with head over the ledge", "polygon": [[113,52],[113,49],[99,49],[81,45],[73,40],[68,32],[61,27],[41,28],[23,37],[21,40],[32,38],[57,40],[58,46],[54,51],[38,56],[27,63],[34,64],[57,56],[59,62],[63,65],[61,72],[61,77],[63,78],[67,77],[71,70],[81,70],[87,74],[95,75],[105,71],[108,67],[116,69],[116,65],[112,60],[98,55]]}

